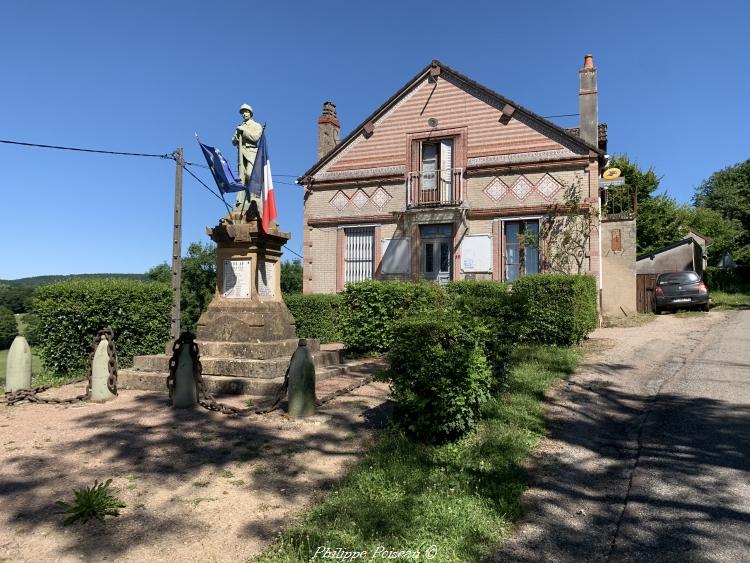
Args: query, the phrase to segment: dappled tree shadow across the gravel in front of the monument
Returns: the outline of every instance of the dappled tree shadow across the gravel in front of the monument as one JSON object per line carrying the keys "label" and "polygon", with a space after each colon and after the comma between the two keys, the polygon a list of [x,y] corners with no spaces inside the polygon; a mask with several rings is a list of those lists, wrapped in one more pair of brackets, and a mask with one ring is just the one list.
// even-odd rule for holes
{"label": "dappled tree shadow across the gravel in front of the monument", "polygon": [[[357,392],[345,400],[356,401]],[[73,424],[84,428],[86,437],[63,439],[62,447],[39,445],[31,453],[27,450],[5,456],[5,475],[10,477],[0,481],[2,512],[14,524],[14,533],[34,534],[40,526],[61,526],[62,517],[54,501],[71,500],[73,488],[91,485],[95,478],[104,481],[135,474],[151,489],[169,491],[189,484],[202,470],[218,474],[232,464],[237,471],[238,463],[245,464],[238,477],[246,480],[251,489],[257,486],[276,495],[282,491],[283,503],[302,503],[311,490],[330,487],[332,480],[324,466],[307,465],[297,459],[299,455],[319,452],[333,459],[357,454],[362,444],[353,442],[351,436],[363,425],[383,424],[389,415],[388,403],[367,408],[363,413],[360,408],[337,408],[339,402],[320,409],[321,422],[313,424],[312,429],[308,424],[298,433],[290,430],[303,423],[278,411],[259,420],[199,408],[174,410],[165,395],[156,393],[139,395],[137,408],[133,408],[132,401],[123,406],[115,401],[106,410],[76,413]],[[53,432],[64,435],[65,429],[56,428]],[[10,449],[16,448],[6,451]],[[74,459],[89,461],[79,465]],[[305,488],[298,480],[302,473]],[[200,538],[205,531],[189,512],[185,514],[183,510],[179,515],[174,510],[175,503],[193,502],[197,506],[201,500],[212,500],[201,499],[199,489],[194,492],[193,499],[164,499],[156,509],[149,506],[148,511],[144,505],[129,505],[119,518],[108,519],[106,524],[69,526],[65,529],[66,539],[69,538],[65,553],[101,560],[127,553],[146,537],[154,546],[174,534],[185,540]],[[261,521],[252,513],[243,514],[243,519],[248,523],[241,528],[242,534],[256,539],[271,539],[283,523],[274,518]]]}

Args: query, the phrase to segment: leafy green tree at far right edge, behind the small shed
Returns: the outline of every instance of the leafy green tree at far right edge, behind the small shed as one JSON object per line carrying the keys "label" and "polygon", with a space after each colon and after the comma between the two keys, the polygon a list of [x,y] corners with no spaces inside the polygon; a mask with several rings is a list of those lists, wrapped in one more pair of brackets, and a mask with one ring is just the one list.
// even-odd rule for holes
{"label": "leafy green tree at far right edge, behind the small shed", "polygon": [[736,262],[750,264],[750,159],[714,172],[696,188],[694,201],[739,222],[742,232],[729,251]]}

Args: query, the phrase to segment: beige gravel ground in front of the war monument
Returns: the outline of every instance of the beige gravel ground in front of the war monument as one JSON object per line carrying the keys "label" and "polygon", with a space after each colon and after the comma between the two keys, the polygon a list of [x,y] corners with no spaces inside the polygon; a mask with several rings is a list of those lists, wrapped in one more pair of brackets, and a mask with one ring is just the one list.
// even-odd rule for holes
{"label": "beige gravel ground in front of the war monument", "polygon": [[[318,395],[350,382],[326,380]],[[0,405],[0,561],[245,561],[356,461],[387,394],[372,383],[305,419],[177,411],[144,391]],[[110,478],[127,503],[119,517],[61,525],[56,500]]]}

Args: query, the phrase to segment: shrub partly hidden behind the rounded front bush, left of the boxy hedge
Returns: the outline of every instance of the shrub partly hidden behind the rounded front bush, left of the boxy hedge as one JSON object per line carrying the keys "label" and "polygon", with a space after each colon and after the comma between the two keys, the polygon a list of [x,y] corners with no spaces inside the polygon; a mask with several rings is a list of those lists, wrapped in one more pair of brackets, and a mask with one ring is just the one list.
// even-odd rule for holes
{"label": "shrub partly hidden behind the rounded front bush, left of the boxy hedge", "polygon": [[484,352],[499,386],[505,380],[510,355],[527,330],[520,296],[511,294],[506,284],[495,281],[451,282],[446,290],[456,311],[473,317],[487,329]]}

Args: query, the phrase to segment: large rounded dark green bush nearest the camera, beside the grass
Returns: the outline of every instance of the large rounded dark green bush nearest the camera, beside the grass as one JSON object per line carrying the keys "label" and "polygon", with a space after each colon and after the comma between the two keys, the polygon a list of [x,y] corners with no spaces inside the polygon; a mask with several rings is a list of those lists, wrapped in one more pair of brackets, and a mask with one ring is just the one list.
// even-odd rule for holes
{"label": "large rounded dark green bush nearest the camera, beside the grass", "polygon": [[460,438],[489,397],[484,327],[455,311],[432,310],[394,323],[389,353],[394,420],[420,441]]}

